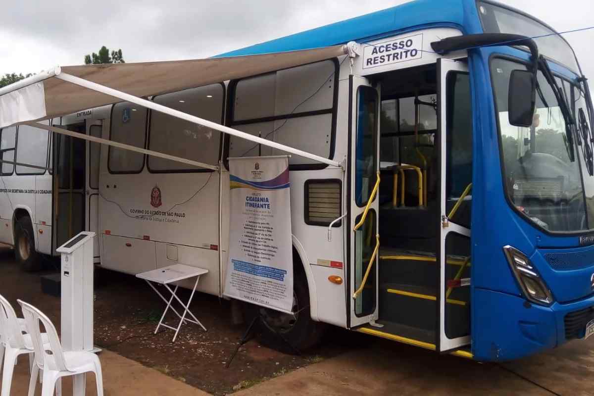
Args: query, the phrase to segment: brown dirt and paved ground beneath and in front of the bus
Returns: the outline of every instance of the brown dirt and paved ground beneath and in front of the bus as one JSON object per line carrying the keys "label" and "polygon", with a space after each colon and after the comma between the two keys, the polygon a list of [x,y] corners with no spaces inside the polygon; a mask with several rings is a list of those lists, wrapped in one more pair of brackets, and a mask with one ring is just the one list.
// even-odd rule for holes
{"label": "brown dirt and paved ground beneath and in front of the bus", "polygon": [[[60,301],[41,292],[40,274],[21,272],[12,251],[2,248],[0,268],[0,293],[15,305],[17,298],[33,303],[59,327]],[[192,311],[208,332],[184,326],[172,344],[172,331],[153,334],[164,307],[149,286],[110,271],[97,271],[96,279],[95,341],[106,349],[100,354],[106,396],[202,395],[198,389],[236,396],[594,395],[594,337],[516,362],[482,364],[330,328],[315,354],[290,356],[252,340],[226,369],[246,327],[230,325],[229,302],[197,294]],[[15,375],[27,384],[26,365]],[[25,394],[25,386],[12,394]],[[87,395],[93,394],[90,379]]]}

